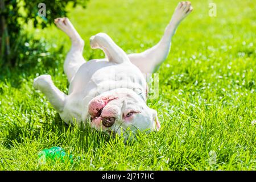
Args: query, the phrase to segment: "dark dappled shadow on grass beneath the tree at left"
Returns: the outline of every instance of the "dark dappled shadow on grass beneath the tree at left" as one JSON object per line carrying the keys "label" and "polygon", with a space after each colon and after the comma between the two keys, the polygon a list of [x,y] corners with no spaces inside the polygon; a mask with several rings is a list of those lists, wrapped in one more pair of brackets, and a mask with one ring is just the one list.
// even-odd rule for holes
{"label": "dark dappled shadow on grass beneath the tree at left", "polygon": [[[55,44],[48,43],[43,38],[36,40],[32,36],[20,36],[16,40],[13,52],[15,61],[13,64],[1,63],[0,61],[0,81],[9,82],[12,87],[20,88],[23,79],[36,73],[46,71],[57,71],[59,64],[63,63],[64,46],[56,48]],[[0,89],[1,92],[1,89]]]}

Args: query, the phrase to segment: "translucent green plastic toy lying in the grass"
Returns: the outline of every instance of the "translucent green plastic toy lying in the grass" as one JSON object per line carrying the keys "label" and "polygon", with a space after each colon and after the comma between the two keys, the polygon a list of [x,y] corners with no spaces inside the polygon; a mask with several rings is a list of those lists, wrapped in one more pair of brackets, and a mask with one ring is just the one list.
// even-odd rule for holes
{"label": "translucent green plastic toy lying in the grass", "polygon": [[61,162],[65,162],[65,160],[69,160],[70,163],[73,163],[73,155],[66,154],[65,150],[61,147],[52,147],[46,148],[38,153],[39,156],[39,164],[45,164],[47,161],[55,161],[60,160]]}

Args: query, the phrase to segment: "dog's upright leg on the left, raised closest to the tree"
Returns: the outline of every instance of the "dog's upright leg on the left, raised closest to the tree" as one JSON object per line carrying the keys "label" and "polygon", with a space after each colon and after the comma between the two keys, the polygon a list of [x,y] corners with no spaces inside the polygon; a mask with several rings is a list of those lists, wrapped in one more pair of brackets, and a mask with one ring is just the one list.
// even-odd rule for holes
{"label": "dog's upright leg on the left, raised closest to the tree", "polygon": [[84,40],[82,40],[81,36],[68,18],[56,18],[54,22],[57,27],[64,31],[71,39],[71,49],[69,50],[64,62],[64,72],[70,82],[80,66],[85,63],[84,57],[82,57]]}

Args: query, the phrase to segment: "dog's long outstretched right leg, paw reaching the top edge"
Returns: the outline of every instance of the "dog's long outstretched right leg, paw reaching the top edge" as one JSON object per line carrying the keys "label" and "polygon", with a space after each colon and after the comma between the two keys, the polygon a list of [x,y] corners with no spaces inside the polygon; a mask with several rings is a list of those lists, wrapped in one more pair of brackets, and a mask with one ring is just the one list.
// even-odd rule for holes
{"label": "dog's long outstretched right leg, paw reaching the top edge", "polygon": [[168,56],[171,47],[171,38],[175,34],[177,26],[179,26],[181,20],[183,20],[192,10],[190,2],[180,2],[175,9],[174,15],[172,15],[172,19],[166,27],[160,42],[142,53],[128,55],[131,63],[137,65],[143,73],[152,73],[156,71]]}

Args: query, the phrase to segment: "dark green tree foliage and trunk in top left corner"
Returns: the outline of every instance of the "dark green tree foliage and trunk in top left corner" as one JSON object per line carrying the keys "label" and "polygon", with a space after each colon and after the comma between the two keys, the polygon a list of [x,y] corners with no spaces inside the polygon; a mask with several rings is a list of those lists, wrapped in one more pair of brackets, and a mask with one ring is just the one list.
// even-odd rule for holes
{"label": "dark green tree foliage and trunk in top left corner", "polygon": [[[24,24],[32,22],[34,27],[44,28],[53,23],[59,16],[66,16],[66,6],[86,7],[88,0],[0,0],[0,65],[3,63],[15,65],[18,58],[17,51],[22,51],[18,41],[26,36],[23,32]],[[46,6],[45,16],[40,14],[40,3]]]}

